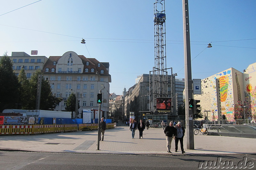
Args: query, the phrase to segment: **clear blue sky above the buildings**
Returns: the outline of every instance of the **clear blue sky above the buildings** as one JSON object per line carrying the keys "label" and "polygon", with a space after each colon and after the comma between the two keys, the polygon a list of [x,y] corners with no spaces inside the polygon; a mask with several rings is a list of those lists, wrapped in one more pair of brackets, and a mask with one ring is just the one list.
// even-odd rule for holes
{"label": "clear blue sky above the buildings", "polygon": [[[110,93],[116,94],[153,70],[155,0],[37,1],[0,1],[0,55],[38,50],[49,57],[74,51],[109,62]],[[256,0],[189,0],[188,5],[192,78],[231,67],[242,72],[256,62]],[[182,0],[165,0],[165,11],[167,68],[182,79]]]}

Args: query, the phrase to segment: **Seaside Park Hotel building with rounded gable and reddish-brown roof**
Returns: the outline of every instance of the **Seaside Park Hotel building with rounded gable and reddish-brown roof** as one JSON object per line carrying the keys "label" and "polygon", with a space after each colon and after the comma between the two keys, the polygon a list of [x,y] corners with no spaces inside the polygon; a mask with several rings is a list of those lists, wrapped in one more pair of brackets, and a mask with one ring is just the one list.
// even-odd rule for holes
{"label": "Seaside Park Hotel building with rounded gable and reddish-brown roof", "polygon": [[86,58],[68,51],[62,56],[50,56],[43,67],[43,76],[52,86],[52,93],[62,98],[54,110],[65,110],[66,102],[72,92],[78,97],[80,108],[98,110],[97,94],[102,93],[102,116],[108,116],[109,100],[109,63],[99,62],[95,58]]}

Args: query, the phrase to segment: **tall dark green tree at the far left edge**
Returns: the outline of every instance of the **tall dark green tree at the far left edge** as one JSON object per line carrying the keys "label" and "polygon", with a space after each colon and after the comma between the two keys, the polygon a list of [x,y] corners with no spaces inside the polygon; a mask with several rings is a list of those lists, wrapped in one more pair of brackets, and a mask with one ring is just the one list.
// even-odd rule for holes
{"label": "tall dark green tree at the far left edge", "polygon": [[19,82],[13,72],[12,61],[7,52],[0,60],[0,112],[8,108],[17,108]]}

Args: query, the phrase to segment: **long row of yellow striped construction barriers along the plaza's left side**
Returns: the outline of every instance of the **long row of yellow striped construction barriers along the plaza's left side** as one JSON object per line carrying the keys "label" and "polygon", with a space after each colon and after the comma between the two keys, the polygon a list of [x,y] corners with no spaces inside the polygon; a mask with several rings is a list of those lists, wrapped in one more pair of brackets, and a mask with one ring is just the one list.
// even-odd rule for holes
{"label": "long row of yellow striped construction barriers along the plaza's left side", "polygon": [[[77,131],[83,128],[98,129],[98,124],[68,124],[68,125],[0,125],[0,135],[10,134],[40,134],[52,132]],[[114,128],[114,123],[108,123],[108,128]]]}

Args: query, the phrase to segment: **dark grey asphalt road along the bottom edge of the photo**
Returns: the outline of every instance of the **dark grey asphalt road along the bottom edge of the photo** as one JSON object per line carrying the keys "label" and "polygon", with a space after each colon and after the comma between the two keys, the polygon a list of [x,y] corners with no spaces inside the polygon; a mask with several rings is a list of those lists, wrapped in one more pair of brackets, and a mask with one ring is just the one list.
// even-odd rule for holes
{"label": "dark grey asphalt road along the bottom edge of the photo", "polygon": [[[255,169],[256,155],[132,155],[0,151],[1,170],[212,169],[210,165]],[[200,162],[205,161],[205,162]],[[227,165],[228,161],[230,164]],[[204,163],[204,164],[203,164]],[[222,164],[221,164],[222,163]],[[232,163],[232,164],[231,164]],[[214,165],[213,165],[214,166]],[[232,167],[233,166],[233,167]],[[218,169],[218,168],[215,168]]]}

